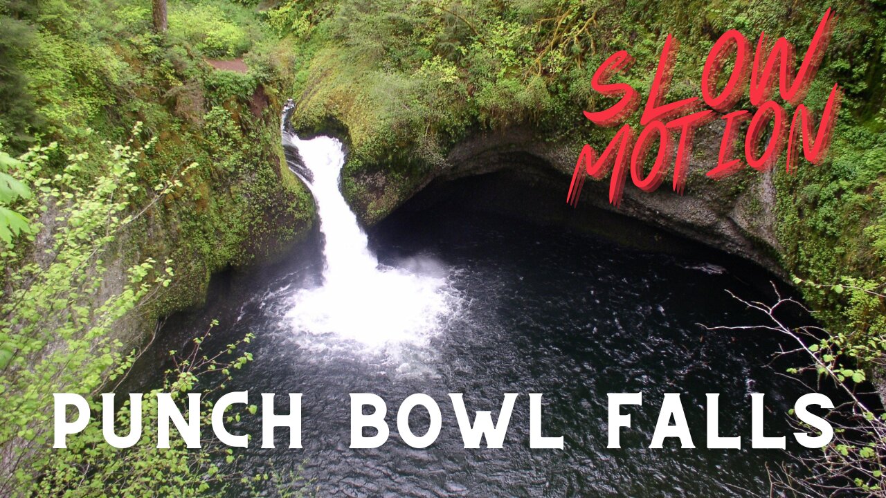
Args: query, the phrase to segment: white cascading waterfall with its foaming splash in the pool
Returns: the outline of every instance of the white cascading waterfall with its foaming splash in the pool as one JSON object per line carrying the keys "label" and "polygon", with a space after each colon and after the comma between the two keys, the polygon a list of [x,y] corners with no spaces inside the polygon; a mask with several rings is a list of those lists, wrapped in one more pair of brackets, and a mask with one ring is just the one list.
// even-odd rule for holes
{"label": "white cascading waterfall with its foaming splash in the pool", "polygon": [[[298,149],[310,172],[303,179],[314,194],[325,237],[323,284],[295,293],[287,314],[291,324],[312,336],[333,334],[375,348],[424,344],[455,307],[445,271],[429,261],[417,265],[422,268],[417,271],[379,267],[338,190],[345,162],[342,144],[329,136],[300,140],[286,129],[283,140]],[[323,346],[328,346],[325,341]]]}

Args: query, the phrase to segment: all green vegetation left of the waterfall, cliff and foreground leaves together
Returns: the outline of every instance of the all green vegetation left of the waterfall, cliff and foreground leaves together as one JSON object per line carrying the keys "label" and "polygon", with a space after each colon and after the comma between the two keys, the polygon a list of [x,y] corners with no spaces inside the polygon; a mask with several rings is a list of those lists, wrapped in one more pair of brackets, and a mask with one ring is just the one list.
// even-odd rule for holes
{"label": "all green vegetation left of the waterfall, cliff and foreground leaves together", "polygon": [[[243,5],[171,3],[169,15],[155,35],[136,0],[0,2],[4,496],[184,496],[253,479],[220,472],[214,447],[158,451],[147,432],[127,451],[91,429],[48,451],[52,393],[96,401],[158,317],[201,302],[212,273],[284,253],[313,222],[307,189],[280,167],[287,43]],[[249,71],[204,61],[232,56]],[[223,378],[206,370],[243,358],[195,356],[159,388],[211,391]]]}

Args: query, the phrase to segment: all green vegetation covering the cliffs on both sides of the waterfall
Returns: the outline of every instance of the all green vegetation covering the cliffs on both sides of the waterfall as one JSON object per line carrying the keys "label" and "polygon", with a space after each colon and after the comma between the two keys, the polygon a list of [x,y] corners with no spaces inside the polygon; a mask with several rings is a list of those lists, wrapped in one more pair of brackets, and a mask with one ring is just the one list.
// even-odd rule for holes
{"label": "all green vegetation covering the cliffs on both sides of the waterfall", "polygon": [[824,164],[776,171],[775,228],[783,268],[833,331],[813,353],[855,383],[879,375],[886,352],[882,1],[170,0],[155,34],[142,0],[0,0],[0,387],[21,401],[0,447],[27,441],[22,455],[39,458],[45,419],[20,419],[46,402],[33,385],[97,392],[145,325],[198,304],[213,272],[267,261],[307,232],[313,201],[281,168],[285,98],[300,130],[343,135],[346,196],[375,221],[478,132],[605,144],[611,130],[580,110],[609,103],[590,79],[614,51],[636,58],[620,81],[642,92],[671,33],[669,98],[696,96],[721,33],[766,31],[802,52],[828,6],[839,17],[805,104],[820,111],[839,82],[843,107]]}

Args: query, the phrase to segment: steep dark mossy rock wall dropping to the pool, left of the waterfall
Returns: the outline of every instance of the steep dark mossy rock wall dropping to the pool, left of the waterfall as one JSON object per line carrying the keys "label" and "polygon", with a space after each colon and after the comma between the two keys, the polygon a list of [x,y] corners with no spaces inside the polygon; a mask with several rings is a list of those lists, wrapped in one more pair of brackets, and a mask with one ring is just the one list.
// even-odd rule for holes
{"label": "steep dark mossy rock wall dropping to the pool, left of the waterfall", "polygon": [[176,146],[206,155],[181,189],[130,225],[109,258],[106,294],[98,302],[121,292],[126,268],[147,255],[172,261],[175,269],[172,284],[119,324],[124,344],[137,345],[150,337],[158,318],[203,306],[213,275],[249,273],[281,261],[313,230],[313,199],[285,166],[277,131],[281,106],[262,87],[248,101],[227,104],[231,122],[253,141],[254,155],[234,164],[225,164],[228,158],[221,152],[199,148],[201,125],[184,126],[177,136],[160,136],[161,155],[174,153]]}

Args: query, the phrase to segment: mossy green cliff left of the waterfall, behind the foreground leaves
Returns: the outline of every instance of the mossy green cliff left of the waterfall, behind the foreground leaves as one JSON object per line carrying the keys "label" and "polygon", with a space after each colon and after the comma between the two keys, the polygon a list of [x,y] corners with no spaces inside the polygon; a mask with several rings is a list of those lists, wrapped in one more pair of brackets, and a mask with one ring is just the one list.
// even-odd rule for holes
{"label": "mossy green cliff left of the waterfall, behind the foreground leaves", "polygon": [[[97,154],[102,141],[123,142],[142,121],[138,140],[158,140],[136,168],[144,185],[136,210],[152,201],[159,179],[198,163],[120,244],[124,265],[148,256],[173,261],[174,283],[145,310],[158,316],[201,303],[214,272],[279,257],[307,234],[315,212],[305,187],[281,167],[280,96],[288,97],[295,72],[289,43],[242,5],[170,2],[166,36],[152,34],[149,11],[136,0],[0,10],[14,33],[27,34],[0,60],[18,74],[13,89],[23,102],[18,113],[0,108],[0,121],[10,123],[0,132],[57,140],[64,157]],[[239,55],[247,74],[203,60]],[[27,145],[17,136],[0,141]]]}

